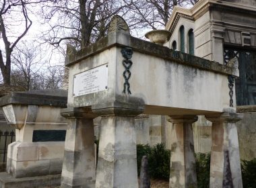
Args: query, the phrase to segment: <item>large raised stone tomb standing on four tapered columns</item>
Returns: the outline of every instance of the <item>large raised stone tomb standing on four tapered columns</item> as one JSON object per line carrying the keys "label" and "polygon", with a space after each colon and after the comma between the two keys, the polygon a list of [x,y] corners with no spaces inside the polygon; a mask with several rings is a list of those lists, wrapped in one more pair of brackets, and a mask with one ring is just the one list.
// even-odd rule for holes
{"label": "large raised stone tomb standing on four tapered columns", "polygon": [[[79,52],[69,48],[61,187],[138,187],[134,125],[141,113],[170,116],[170,187],[197,187],[191,129],[197,115],[213,122],[211,187],[243,186],[234,124],[241,119],[236,67],[133,38],[119,16],[105,38]],[[102,126],[95,172],[96,115]]]}

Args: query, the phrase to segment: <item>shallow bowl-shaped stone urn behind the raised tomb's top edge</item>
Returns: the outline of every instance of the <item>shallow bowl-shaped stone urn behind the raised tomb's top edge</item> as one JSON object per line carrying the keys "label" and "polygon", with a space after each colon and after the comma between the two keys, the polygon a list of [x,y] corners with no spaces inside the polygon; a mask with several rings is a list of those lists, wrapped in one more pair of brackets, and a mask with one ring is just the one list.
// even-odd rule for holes
{"label": "shallow bowl-shaped stone urn behind the raised tomb's top edge", "polygon": [[167,30],[153,30],[145,34],[145,37],[155,44],[164,45],[170,39],[170,32]]}

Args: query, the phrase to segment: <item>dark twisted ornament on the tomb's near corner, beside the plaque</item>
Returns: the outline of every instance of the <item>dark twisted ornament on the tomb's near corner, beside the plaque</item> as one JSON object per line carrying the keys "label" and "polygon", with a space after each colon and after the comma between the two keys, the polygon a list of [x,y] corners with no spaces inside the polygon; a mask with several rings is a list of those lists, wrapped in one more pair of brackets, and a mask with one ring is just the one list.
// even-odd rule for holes
{"label": "dark twisted ornament on the tomb's near corner, beside the plaque", "polygon": [[133,50],[129,47],[124,47],[121,49],[121,53],[123,58],[125,58],[123,60],[123,66],[125,66],[125,71],[123,71],[123,77],[125,78],[125,83],[123,84],[123,93],[126,93],[127,88],[127,93],[131,94],[129,79],[131,77],[130,68],[133,64],[133,62],[130,60],[133,56]]}

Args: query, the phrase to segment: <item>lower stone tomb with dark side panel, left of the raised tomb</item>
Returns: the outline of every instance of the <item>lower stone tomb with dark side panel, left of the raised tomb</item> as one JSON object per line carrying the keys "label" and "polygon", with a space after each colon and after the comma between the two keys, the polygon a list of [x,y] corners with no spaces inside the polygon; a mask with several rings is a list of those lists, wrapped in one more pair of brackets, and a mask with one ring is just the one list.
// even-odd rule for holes
{"label": "lower stone tomb with dark side panel, left of the raised tomb", "polygon": [[5,119],[15,126],[15,142],[9,144],[5,187],[59,185],[67,120],[60,115],[66,107],[67,91],[15,92],[0,98]]}

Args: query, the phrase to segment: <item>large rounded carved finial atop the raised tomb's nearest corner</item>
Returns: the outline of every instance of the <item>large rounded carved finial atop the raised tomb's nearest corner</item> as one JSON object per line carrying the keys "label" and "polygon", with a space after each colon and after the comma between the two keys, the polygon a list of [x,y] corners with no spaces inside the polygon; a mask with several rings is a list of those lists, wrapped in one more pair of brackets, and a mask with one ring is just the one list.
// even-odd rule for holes
{"label": "large rounded carved finial atop the raised tomb's nearest corner", "polygon": [[129,27],[120,15],[114,15],[109,23],[108,26],[108,34],[112,32],[125,32],[127,34],[130,34]]}

